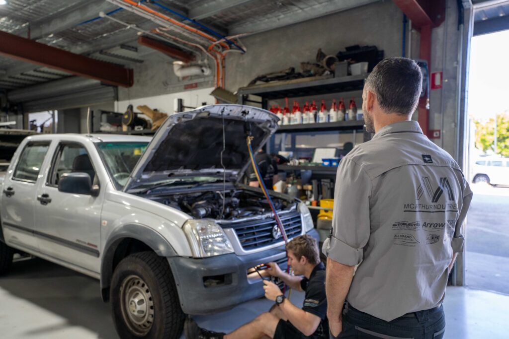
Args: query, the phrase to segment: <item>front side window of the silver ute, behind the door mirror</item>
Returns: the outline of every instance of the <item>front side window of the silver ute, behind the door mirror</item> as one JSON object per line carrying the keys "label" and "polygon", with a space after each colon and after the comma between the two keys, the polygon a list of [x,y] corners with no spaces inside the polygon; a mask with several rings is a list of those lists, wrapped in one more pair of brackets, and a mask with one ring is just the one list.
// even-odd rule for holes
{"label": "front side window of the silver ute, behind the door mirror", "polygon": [[94,182],[96,178],[94,166],[87,149],[77,143],[60,144],[53,160],[47,184],[57,187],[63,174],[76,172],[87,173],[90,175],[91,182]]}

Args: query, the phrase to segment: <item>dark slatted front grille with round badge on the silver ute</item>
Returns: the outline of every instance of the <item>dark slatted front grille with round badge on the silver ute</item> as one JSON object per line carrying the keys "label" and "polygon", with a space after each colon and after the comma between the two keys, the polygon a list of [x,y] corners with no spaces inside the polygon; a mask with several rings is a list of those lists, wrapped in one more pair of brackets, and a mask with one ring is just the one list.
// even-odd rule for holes
{"label": "dark slatted front grille with round badge on the silver ute", "polygon": [[[302,221],[299,212],[282,215],[279,219],[285,228],[288,239],[300,235],[302,231]],[[277,226],[275,219],[267,218],[228,226],[225,225],[223,227],[231,227],[235,230],[244,250],[253,250],[282,240],[282,237],[274,239],[272,235],[274,226]]]}

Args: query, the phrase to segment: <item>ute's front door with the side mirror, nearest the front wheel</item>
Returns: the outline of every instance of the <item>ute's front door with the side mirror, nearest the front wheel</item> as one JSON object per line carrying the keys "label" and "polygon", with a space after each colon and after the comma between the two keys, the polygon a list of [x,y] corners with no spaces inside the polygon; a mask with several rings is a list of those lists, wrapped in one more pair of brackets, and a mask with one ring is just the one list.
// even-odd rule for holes
{"label": "ute's front door with the side mirror, nearest the front wheel", "polygon": [[62,175],[72,172],[87,173],[92,182],[99,184],[87,148],[76,142],[61,142],[46,182],[37,191],[38,244],[44,254],[97,273],[102,203],[90,194],[59,191]]}

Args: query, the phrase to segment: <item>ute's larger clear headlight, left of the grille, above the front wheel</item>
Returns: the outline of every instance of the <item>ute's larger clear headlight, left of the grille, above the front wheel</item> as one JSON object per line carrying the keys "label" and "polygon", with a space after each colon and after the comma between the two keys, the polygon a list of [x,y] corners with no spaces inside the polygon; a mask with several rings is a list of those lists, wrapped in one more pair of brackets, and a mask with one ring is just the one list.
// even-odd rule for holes
{"label": "ute's larger clear headlight, left of the grille, above the front wheel", "polygon": [[204,258],[233,253],[233,247],[222,228],[208,220],[188,220],[184,233],[191,245],[193,257]]}

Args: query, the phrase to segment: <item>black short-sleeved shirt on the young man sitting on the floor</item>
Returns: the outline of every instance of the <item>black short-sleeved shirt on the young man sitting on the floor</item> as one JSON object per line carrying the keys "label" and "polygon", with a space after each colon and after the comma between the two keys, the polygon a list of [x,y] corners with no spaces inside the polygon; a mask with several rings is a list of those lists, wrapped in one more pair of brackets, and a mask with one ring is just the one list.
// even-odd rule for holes
{"label": "black short-sleeved shirt on the young man sitting on the floor", "polygon": [[316,265],[309,279],[304,278],[300,281],[300,287],[305,292],[302,310],[320,317],[323,322],[327,316],[325,265],[322,262]]}

